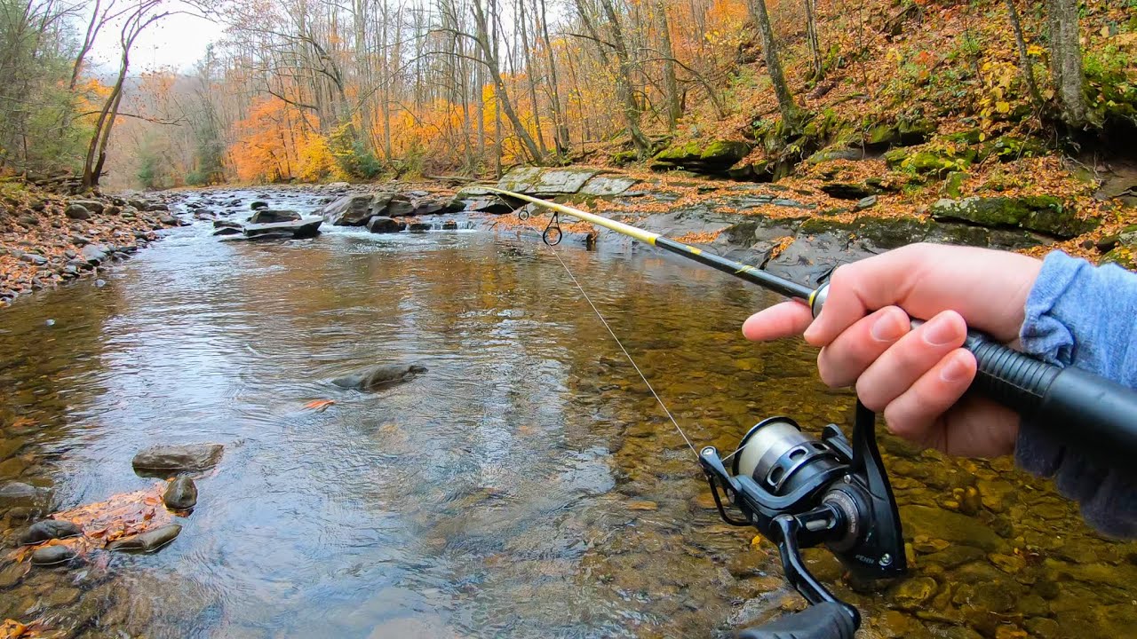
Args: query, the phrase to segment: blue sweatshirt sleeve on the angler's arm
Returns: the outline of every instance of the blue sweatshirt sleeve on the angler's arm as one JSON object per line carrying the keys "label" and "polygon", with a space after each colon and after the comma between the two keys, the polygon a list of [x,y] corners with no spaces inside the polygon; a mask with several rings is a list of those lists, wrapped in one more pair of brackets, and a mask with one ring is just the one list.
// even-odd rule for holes
{"label": "blue sweatshirt sleeve on the angler's arm", "polygon": [[[1077,366],[1137,388],[1137,274],[1117,265],[1093,266],[1052,252],[1027,298],[1023,351],[1060,366]],[[1137,416],[1135,416],[1137,418]],[[1137,473],[1095,465],[1024,420],[1015,463],[1053,476],[1059,491],[1081,505],[1085,520],[1114,537],[1137,537]]]}

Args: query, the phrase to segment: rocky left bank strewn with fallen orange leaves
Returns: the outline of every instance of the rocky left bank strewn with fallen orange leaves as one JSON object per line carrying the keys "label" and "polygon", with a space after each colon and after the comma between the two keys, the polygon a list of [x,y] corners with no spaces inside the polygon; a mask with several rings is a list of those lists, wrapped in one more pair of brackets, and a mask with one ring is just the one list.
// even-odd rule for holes
{"label": "rocky left bank strewn with fallen orange leaves", "polygon": [[0,307],[19,296],[98,275],[188,224],[174,193],[76,198],[8,183],[0,201]]}

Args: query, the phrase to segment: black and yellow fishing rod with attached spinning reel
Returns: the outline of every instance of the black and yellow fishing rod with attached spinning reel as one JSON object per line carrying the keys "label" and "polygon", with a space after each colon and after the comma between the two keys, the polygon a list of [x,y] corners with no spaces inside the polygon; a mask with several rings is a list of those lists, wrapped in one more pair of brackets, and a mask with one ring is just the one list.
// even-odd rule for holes
{"label": "black and yellow fishing rod with attached spinning reel", "polygon": [[[541,233],[549,246],[563,238],[558,215],[567,215],[802,301],[814,317],[828,297],[828,283],[810,289],[623,222],[523,193],[483,189],[514,208],[528,202],[551,210],[553,217]],[[921,321],[913,318],[912,323],[915,326]],[[985,395],[1062,440],[1069,441],[1070,434],[1077,433],[1072,446],[1111,466],[1128,467],[1137,456],[1134,389],[1080,368],[1035,359],[978,331],[968,332],[963,348],[978,363],[969,392]],[[679,431],[687,439],[682,429]],[[858,400],[852,437],[846,438],[839,426],[829,424],[820,439],[803,433],[789,417],[770,417],[742,437],[735,454],[722,457],[715,447],[707,446],[697,455],[719,515],[732,525],[753,525],[774,541],[786,579],[811,604],[799,613],[744,630],[739,637],[853,639],[861,625],[860,613],[810,574],[800,549],[824,543],[860,579],[893,578],[906,572],[896,499],[877,448],[875,414]],[[741,518],[728,514],[720,490],[742,514]]]}

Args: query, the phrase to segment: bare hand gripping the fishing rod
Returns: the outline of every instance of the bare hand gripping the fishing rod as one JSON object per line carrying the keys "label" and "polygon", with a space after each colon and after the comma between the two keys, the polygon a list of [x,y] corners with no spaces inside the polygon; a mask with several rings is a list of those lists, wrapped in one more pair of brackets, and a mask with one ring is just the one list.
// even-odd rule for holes
{"label": "bare hand gripping the fishing rod", "polygon": [[[765,341],[804,333],[821,347],[818,371],[831,388],[856,384],[888,429],[951,455],[1014,451],[1019,416],[964,391],[974,356],[968,326],[1014,343],[1041,262],[945,244],[910,244],[833,271],[816,320],[799,301],[752,315],[742,334]],[[910,317],[927,322],[912,329]]]}

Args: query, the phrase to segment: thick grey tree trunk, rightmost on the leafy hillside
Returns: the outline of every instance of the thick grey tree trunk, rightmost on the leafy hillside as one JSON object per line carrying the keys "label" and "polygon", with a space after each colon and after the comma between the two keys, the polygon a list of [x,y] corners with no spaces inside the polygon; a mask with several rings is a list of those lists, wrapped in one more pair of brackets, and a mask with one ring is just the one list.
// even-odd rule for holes
{"label": "thick grey tree trunk, rightmost on the leafy hillside", "polygon": [[1088,107],[1082,90],[1081,44],[1078,42],[1078,0],[1047,0],[1051,30],[1051,69],[1054,89],[1062,107],[1062,121],[1071,128],[1084,128]]}

